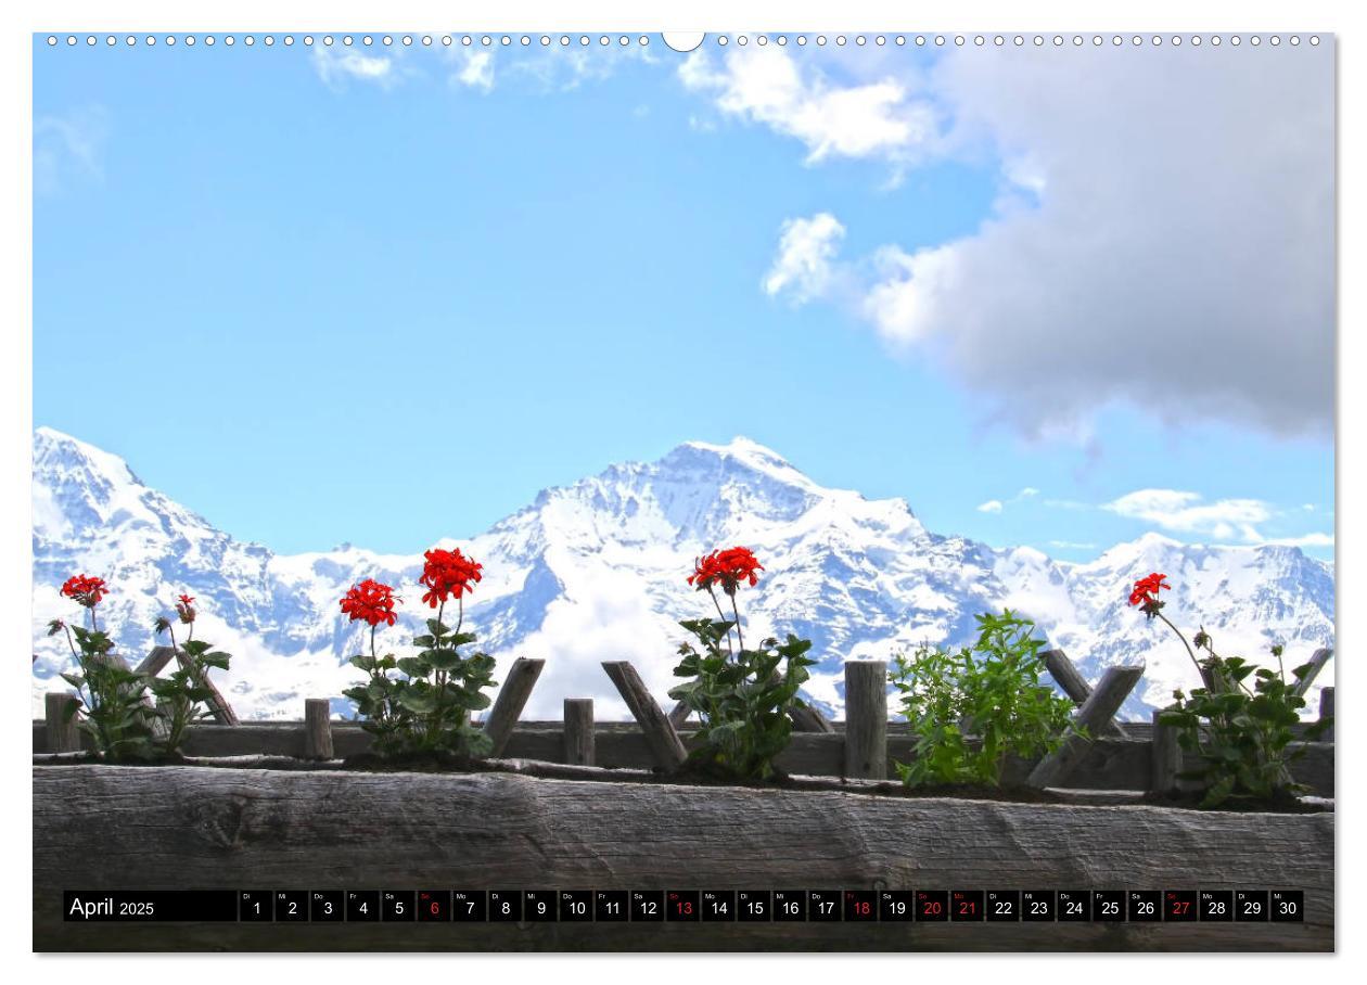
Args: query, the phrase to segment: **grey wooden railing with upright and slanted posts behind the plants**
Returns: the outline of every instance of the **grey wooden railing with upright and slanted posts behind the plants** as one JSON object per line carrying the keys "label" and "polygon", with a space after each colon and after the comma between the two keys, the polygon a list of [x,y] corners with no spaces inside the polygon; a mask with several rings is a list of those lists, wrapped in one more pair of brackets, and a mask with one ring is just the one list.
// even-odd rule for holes
{"label": "grey wooden railing with upright and slanted posts behind the plants", "polygon": [[[1327,663],[1327,650],[1316,652],[1314,672]],[[160,656],[160,654],[159,654]],[[1047,667],[1061,689],[1077,705],[1074,720],[1087,725],[1091,739],[1068,739],[1055,753],[1038,761],[1009,760],[1003,781],[1036,788],[1065,787],[1113,791],[1162,791],[1180,787],[1182,751],[1174,731],[1156,723],[1117,723],[1115,715],[1143,675],[1141,665],[1110,667],[1089,684],[1061,650],[1047,654]],[[627,661],[604,663],[634,719],[632,723],[596,723],[592,698],[567,698],[562,721],[519,723],[522,709],[541,674],[544,661],[515,660],[504,678],[483,728],[493,740],[493,757],[540,760],[581,766],[659,769],[671,772],[688,755],[694,730],[675,708],[666,713]],[[1308,689],[1308,676],[1304,687]],[[82,749],[75,721],[66,713],[74,698],[49,694],[45,719],[34,721],[36,754]],[[1333,716],[1334,689],[1321,693],[1321,717]],[[370,736],[360,723],[335,720],[325,698],[305,701],[302,721],[253,721],[194,725],[185,753],[201,757],[286,755],[334,760],[369,749]],[[685,709],[686,712],[686,709]],[[815,709],[794,709],[794,734],[776,765],[787,773],[886,780],[895,776],[895,762],[915,757],[915,738],[906,723],[890,721],[887,664],[850,660],[845,664],[845,721],[830,721]],[[235,716],[234,716],[235,717]],[[1333,796],[1334,746],[1329,740],[1304,743],[1305,755],[1295,764],[1293,777],[1314,792]]]}

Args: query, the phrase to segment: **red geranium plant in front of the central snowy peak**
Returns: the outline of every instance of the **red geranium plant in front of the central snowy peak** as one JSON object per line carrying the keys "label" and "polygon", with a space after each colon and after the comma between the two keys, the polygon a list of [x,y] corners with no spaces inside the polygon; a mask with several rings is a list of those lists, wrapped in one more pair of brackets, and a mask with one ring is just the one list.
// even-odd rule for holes
{"label": "red geranium plant in front of the central snowy peak", "polygon": [[[689,683],[670,691],[701,721],[689,762],[700,772],[727,779],[772,779],[778,775],[774,760],[787,747],[793,731],[787,712],[802,705],[797,691],[808,679],[807,668],[816,663],[804,656],[812,643],[789,634],[783,643],[770,638],[757,649],[746,649],[737,593],[742,585],[753,586],[764,570],[746,548],[714,551],[693,567],[688,582],[708,593],[718,619],[679,623],[701,645],[679,646],[682,660],[674,674]],[[734,619],[722,611],[718,589],[730,600]]]}

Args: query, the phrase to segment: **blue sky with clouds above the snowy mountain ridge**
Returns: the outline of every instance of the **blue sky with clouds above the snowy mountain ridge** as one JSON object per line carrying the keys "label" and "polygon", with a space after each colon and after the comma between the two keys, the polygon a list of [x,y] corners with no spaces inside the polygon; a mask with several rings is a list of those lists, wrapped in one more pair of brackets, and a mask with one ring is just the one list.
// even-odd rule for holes
{"label": "blue sky with clouds above the snowy mountain ridge", "polygon": [[1331,557],[1333,52],[1065,53],[36,40],[34,422],[283,552],[745,434]]}

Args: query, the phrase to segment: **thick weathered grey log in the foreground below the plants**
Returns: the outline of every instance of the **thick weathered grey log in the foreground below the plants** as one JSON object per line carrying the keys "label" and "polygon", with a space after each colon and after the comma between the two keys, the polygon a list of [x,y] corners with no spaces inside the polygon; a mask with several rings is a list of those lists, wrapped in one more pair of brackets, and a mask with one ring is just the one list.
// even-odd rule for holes
{"label": "thick weathered grey log in the foreground below the plants", "polygon": [[[1333,948],[1333,814],[197,766],[36,766],[34,948]],[[1303,889],[1305,922],[77,925],[67,888]]]}

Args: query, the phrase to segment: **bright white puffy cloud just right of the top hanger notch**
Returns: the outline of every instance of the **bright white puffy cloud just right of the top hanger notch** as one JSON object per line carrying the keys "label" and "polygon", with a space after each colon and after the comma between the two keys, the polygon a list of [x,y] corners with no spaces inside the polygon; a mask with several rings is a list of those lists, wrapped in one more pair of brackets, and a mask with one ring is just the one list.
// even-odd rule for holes
{"label": "bright white puffy cloud just right of the top hanger notch", "polygon": [[711,96],[725,115],[801,141],[809,163],[833,156],[904,161],[938,131],[931,104],[916,98],[905,81],[889,75],[834,85],[775,46],[734,48],[720,64],[699,49],[679,66],[679,79]]}

